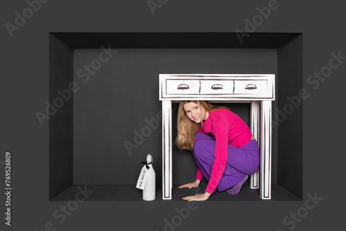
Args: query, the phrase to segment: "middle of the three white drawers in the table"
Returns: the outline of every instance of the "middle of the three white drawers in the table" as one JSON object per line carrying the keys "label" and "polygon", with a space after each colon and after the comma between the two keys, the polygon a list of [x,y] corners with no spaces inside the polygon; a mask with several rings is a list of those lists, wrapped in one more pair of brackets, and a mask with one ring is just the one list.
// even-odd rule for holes
{"label": "middle of the three white drawers in the table", "polygon": [[201,80],[201,94],[233,94],[233,80]]}

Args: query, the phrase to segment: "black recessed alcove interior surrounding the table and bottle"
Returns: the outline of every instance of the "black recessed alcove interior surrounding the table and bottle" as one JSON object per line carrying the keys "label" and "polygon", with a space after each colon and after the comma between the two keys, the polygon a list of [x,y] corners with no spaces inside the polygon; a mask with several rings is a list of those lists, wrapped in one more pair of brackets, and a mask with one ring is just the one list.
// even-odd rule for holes
{"label": "black recessed alcove interior surrounding the table and bottle", "polygon": [[[302,89],[302,34],[253,33],[244,41],[235,33],[50,33],[49,102],[71,82],[78,91],[49,120],[49,199],[69,201],[78,185],[88,185],[93,194],[87,201],[142,201],[136,189],[140,162],[152,154],[156,201],[162,201],[159,73],[275,73],[277,121],[275,108]],[[99,59],[101,46],[116,53],[95,73],[84,71]],[[249,124],[248,104],[224,105]],[[137,147],[129,150],[129,143]],[[188,151],[173,151],[172,199],[181,200],[193,192],[176,186],[193,181],[197,167]],[[301,199],[302,106],[273,126],[272,143],[272,200]],[[259,190],[248,185],[236,196],[216,192],[210,200],[261,201]]]}

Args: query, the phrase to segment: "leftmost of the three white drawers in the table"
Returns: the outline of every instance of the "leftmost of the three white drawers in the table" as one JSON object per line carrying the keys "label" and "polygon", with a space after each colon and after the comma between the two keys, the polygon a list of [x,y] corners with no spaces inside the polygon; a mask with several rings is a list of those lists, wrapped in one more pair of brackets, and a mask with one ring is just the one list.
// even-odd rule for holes
{"label": "leftmost of the three white drawers in the table", "polygon": [[199,94],[199,80],[167,80],[167,95]]}

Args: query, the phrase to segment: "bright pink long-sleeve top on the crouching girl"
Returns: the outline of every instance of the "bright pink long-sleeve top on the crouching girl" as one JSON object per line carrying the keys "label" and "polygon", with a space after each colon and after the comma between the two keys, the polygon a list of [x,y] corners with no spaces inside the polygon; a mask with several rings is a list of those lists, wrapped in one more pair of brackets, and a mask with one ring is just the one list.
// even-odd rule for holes
{"label": "bright pink long-sleeve top on the crouching girl", "polygon": [[[212,194],[224,174],[228,158],[228,145],[244,147],[252,138],[251,130],[239,115],[227,109],[210,111],[208,119],[199,127],[199,132],[215,138],[215,160],[206,192]],[[197,169],[197,180],[203,173]]]}

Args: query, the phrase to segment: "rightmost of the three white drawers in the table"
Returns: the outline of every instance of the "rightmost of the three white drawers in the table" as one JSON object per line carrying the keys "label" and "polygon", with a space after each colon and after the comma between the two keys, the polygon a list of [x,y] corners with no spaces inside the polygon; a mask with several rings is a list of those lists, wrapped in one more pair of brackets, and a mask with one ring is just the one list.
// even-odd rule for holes
{"label": "rightmost of the three white drawers in the table", "polygon": [[268,94],[267,80],[235,80],[235,94]]}

